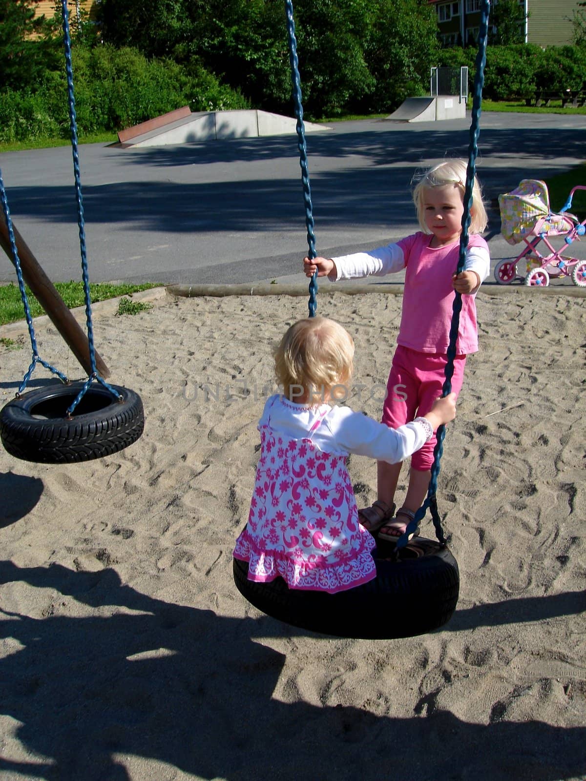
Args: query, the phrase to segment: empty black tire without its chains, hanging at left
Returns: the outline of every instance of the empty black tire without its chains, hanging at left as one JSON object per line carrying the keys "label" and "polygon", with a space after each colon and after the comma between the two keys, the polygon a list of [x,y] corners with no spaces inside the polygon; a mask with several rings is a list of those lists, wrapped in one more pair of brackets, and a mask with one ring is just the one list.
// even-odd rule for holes
{"label": "empty black tire without its chains, hanging at left", "polygon": [[0,411],[5,450],[24,461],[59,464],[103,458],[138,440],[145,427],[140,396],[92,383],[68,414],[84,385],[55,383],[9,401]]}

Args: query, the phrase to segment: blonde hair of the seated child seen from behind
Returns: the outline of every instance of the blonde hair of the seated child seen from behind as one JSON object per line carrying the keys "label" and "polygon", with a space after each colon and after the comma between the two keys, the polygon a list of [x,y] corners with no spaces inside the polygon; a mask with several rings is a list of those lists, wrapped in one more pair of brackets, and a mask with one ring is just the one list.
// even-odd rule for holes
{"label": "blonde hair of the seated child seen from behind", "polygon": [[[320,394],[323,399],[336,385],[352,376],[354,341],[345,328],[325,317],[308,317],[294,323],[274,351],[277,383],[286,398]],[[299,393],[295,388],[301,390]]]}

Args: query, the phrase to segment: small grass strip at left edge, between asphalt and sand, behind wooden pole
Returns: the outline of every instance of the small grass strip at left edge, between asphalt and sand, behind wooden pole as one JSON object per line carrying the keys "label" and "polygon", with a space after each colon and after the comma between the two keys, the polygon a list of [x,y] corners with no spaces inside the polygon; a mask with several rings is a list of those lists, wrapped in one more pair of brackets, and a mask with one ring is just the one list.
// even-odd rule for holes
{"label": "small grass strip at left edge, between asphalt and sand, behind wooden pole", "polygon": [[[91,303],[95,304],[98,301],[106,301],[108,298],[131,295],[138,291],[148,290],[151,287],[157,287],[157,285],[150,282],[142,285],[110,284],[105,282],[91,283]],[[67,308],[73,309],[76,306],[85,305],[83,282],[55,282],[55,289],[59,292],[61,298],[63,298]],[[26,290],[31,315],[33,317],[44,315],[45,310],[41,307],[37,299],[34,298],[34,295],[30,292],[28,287]],[[136,312],[142,311],[142,308],[146,306],[141,305],[138,301],[130,301],[129,299],[126,299],[126,301],[129,305],[132,305],[131,307],[124,309],[124,312],[128,312],[129,314],[136,314]],[[134,311],[130,311],[133,308]],[[124,312],[120,312],[120,314],[123,314]],[[23,318],[24,308],[20,298],[19,288],[13,283],[0,286],[0,326],[4,326],[6,323],[14,323],[16,320],[22,320]]]}

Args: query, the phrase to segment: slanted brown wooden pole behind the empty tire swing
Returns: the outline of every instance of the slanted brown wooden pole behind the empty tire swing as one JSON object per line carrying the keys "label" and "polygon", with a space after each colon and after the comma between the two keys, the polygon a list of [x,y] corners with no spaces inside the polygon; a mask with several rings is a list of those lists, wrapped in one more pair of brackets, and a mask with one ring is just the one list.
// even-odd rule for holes
{"label": "slanted brown wooden pole behind the empty tire swing", "polygon": [[[70,310],[66,307],[65,301],[55,290],[52,281],[49,280],[41,268],[41,264],[34,257],[33,253],[27,247],[23,237],[13,223],[14,238],[16,241],[16,249],[18,250],[18,256],[20,259],[20,269],[23,272],[23,279],[30,287],[34,296],[45,309],[55,328],[59,331],[63,339],[68,344],[73,355],[80,362],[80,365],[88,373],[91,374],[91,361],[90,361],[90,346],[88,337],[84,333],[80,324],[73,317]],[[10,237],[8,227],[5,220],[0,219],[0,246],[9,256],[10,261],[14,265],[13,251],[10,246]],[[104,379],[110,376],[110,370],[105,365],[102,358],[95,351],[95,368]]]}

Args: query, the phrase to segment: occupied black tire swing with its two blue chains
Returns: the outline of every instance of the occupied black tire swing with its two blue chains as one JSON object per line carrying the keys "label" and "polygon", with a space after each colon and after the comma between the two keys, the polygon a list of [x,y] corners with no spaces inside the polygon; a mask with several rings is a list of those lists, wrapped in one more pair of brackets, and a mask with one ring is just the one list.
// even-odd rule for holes
{"label": "occupied black tire swing with its two blue chains", "polygon": [[[481,27],[478,39],[476,74],[472,105],[472,123],[470,125],[470,146],[466,171],[466,189],[464,193],[464,214],[462,234],[459,245],[459,259],[456,273],[464,269],[468,229],[470,227],[470,206],[472,187],[475,177],[475,162],[478,152],[479,117],[481,114],[482,86],[484,84],[484,64],[486,62],[486,42],[488,36],[489,0],[482,2]],[[302,169],[303,194],[306,203],[306,226],[309,243],[309,258],[316,257],[315,236],[313,234],[313,216],[309,173],[307,167],[307,148],[303,126],[301,105],[301,87],[299,85],[298,59],[295,41],[295,23],[291,0],[285,0],[288,23],[289,59],[291,79],[297,116],[298,148]],[[317,275],[309,284],[309,316],[316,313]],[[452,308],[445,382],[442,395],[452,391],[456,339],[459,330],[459,314],[462,310],[462,297],[455,294]],[[443,453],[445,426],[440,426],[434,449],[434,464],[431,468],[431,480],[427,497],[409,522],[405,533],[396,545],[377,540],[373,558],[377,577],[369,583],[338,594],[326,592],[290,589],[287,583],[277,577],[269,583],[256,583],[248,580],[248,563],[233,559],[234,583],[243,597],[255,608],[259,608],[274,619],[309,629],[313,632],[330,634],[337,637],[364,639],[393,639],[413,637],[431,632],[444,626],[456,609],[459,596],[458,563],[449,551],[441,519],[438,513],[436,491],[440,471],[440,459]],[[409,536],[420,526],[427,508],[430,508],[438,540],[427,540]]]}

